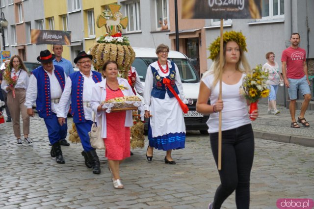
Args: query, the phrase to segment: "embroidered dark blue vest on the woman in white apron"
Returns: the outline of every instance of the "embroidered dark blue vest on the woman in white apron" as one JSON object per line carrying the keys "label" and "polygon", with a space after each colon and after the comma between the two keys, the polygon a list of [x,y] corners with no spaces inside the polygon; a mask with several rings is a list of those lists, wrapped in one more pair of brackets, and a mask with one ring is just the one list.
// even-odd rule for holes
{"label": "embroidered dark blue vest on the woman in white apron", "polygon": [[[152,65],[151,65],[151,69],[152,69],[153,77],[154,77],[153,90],[151,92],[151,96],[155,97],[155,98],[159,98],[159,99],[164,99],[166,92],[167,92],[168,96],[170,98],[173,98],[174,95],[171,93],[171,91],[168,88],[166,88],[166,85],[163,84],[163,82],[162,82],[164,77],[161,77],[158,74],[157,70],[154,67],[152,67]],[[176,69],[175,69],[174,62],[171,62],[171,68],[169,68],[169,75],[166,76],[165,78],[170,79],[171,86],[176,91],[176,93],[179,95],[179,90],[178,90],[178,87],[175,83]]]}

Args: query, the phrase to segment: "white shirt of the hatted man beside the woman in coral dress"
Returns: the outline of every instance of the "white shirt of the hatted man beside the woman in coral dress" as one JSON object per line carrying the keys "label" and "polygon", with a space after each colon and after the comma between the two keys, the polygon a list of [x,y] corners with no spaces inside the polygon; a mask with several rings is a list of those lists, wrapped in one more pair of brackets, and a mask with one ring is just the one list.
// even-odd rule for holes
{"label": "white shirt of the hatted man beside the woman in coral dress", "polygon": [[[96,84],[93,80],[93,72],[91,71],[89,77],[85,76],[79,72],[82,77],[84,77],[83,84],[83,102],[90,102],[92,96],[92,90]],[[72,93],[72,80],[70,77],[67,78],[65,83],[64,91],[60,99],[59,109],[57,110],[57,117],[66,118],[67,114],[65,112],[66,106],[71,102],[71,93]],[[85,120],[93,120],[92,118],[92,108],[84,105],[84,115]]]}

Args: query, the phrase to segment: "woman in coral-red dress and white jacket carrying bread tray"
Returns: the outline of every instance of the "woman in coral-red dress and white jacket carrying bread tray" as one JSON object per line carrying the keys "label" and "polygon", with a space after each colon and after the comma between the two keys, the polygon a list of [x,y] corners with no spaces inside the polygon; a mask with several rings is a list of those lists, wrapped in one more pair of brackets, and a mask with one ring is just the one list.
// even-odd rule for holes
{"label": "woman in coral-red dress and white jacket carrying bread tray", "polygon": [[115,61],[105,62],[102,69],[105,79],[94,86],[91,107],[97,115],[96,121],[102,121],[105,157],[108,158],[113,186],[123,189],[119,167],[125,158],[130,157],[132,110],[107,113],[101,103],[116,97],[132,96],[134,93],[127,79],[118,78],[118,64]]}

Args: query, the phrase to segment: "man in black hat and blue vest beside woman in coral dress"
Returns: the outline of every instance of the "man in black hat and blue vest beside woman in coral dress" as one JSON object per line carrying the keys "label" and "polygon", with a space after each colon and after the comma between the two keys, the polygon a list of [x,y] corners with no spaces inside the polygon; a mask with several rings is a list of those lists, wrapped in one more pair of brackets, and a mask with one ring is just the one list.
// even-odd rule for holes
{"label": "man in black hat and blue vest beside woman in coral dress", "polygon": [[67,110],[68,102],[71,101],[71,114],[84,149],[81,154],[84,157],[85,165],[93,168],[94,174],[99,174],[101,172],[99,158],[96,150],[90,145],[88,132],[91,131],[93,123],[92,108],[90,107],[92,89],[97,82],[102,81],[102,75],[91,71],[92,58],[92,55],[82,51],[74,59],[79,71],[70,74],[67,78],[57,116],[60,125],[63,125],[67,117],[65,110]]}

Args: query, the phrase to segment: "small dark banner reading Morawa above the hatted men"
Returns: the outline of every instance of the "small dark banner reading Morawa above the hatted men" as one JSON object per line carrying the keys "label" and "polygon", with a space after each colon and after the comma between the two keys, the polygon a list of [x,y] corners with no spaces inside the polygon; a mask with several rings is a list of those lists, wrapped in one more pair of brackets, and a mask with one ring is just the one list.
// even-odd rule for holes
{"label": "small dark banner reading Morawa above the hatted men", "polygon": [[71,31],[32,29],[30,36],[32,44],[71,45]]}

